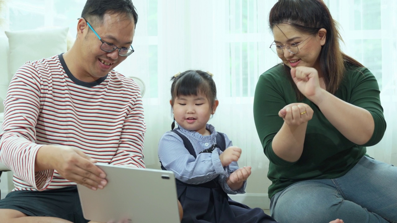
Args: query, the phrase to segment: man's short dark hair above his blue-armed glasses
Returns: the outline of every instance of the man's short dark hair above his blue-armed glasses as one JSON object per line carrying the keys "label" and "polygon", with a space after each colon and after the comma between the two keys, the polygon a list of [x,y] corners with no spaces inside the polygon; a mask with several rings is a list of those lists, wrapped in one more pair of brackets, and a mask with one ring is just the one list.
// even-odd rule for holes
{"label": "man's short dark hair above his blue-armed glasses", "polygon": [[131,0],[87,0],[83,12],[81,12],[81,17],[88,19],[92,23],[91,25],[98,26],[102,25],[103,16],[106,13],[124,13],[134,18],[136,27],[138,14],[135,10]]}

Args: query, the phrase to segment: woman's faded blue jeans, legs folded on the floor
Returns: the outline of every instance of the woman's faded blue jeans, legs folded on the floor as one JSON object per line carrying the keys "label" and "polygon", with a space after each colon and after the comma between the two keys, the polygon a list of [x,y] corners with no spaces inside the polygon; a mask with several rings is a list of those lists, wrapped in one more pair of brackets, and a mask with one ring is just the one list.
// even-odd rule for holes
{"label": "woman's faded blue jeans, legs folded on the floor", "polygon": [[397,223],[397,167],[364,156],[343,177],[295,183],[272,197],[280,223]]}

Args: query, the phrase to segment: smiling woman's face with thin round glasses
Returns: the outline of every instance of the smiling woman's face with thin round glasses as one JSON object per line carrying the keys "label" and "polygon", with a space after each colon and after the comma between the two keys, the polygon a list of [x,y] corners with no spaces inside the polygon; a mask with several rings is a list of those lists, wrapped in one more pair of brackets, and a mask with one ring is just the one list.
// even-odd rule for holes
{"label": "smiling woman's face with thin round glasses", "polygon": [[275,25],[273,28],[274,43],[284,46],[287,42],[298,44],[299,51],[293,54],[283,49],[283,54],[278,57],[290,68],[305,66],[314,67],[320,71],[320,52],[325,44],[326,30],[320,29],[318,33],[311,35],[302,33],[289,24]]}

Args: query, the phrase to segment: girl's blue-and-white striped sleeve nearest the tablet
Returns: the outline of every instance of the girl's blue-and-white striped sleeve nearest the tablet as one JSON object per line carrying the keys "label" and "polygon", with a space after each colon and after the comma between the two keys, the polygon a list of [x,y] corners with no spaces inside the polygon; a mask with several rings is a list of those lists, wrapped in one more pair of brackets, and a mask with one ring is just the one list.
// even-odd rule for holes
{"label": "girl's blue-and-white striped sleeve nearest the tablet", "polygon": [[218,148],[212,153],[200,153],[195,159],[183,145],[183,140],[173,132],[160,138],[158,156],[162,165],[184,183],[198,185],[226,174]]}

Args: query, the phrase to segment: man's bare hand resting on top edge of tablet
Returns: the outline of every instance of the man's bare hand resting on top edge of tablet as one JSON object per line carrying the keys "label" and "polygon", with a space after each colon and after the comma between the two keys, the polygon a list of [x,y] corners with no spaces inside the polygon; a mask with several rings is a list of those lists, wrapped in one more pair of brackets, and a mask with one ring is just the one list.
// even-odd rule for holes
{"label": "man's bare hand resting on top edge of tablet", "polygon": [[96,162],[78,148],[46,145],[37,152],[35,171],[55,169],[65,179],[96,190],[107,184],[106,174]]}

